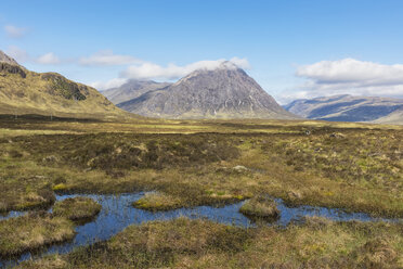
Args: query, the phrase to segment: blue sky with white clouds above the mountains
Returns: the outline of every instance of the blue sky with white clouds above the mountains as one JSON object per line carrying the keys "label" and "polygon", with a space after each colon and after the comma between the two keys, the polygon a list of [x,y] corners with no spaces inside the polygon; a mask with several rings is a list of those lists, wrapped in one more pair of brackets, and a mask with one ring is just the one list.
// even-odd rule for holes
{"label": "blue sky with white clouds above the mountains", "polygon": [[0,0],[0,50],[104,90],[232,61],[280,103],[403,98],[401,0]]}

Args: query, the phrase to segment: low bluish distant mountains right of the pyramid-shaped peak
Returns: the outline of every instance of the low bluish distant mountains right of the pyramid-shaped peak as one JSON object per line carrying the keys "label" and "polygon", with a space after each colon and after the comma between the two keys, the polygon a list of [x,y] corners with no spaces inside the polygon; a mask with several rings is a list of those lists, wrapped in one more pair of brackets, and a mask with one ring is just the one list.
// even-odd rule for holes
{"label": "low bluish distant mountains right of the pyramid-shaped peak", "polygon": [[284,107],[304,118],[330,121],[374,121],[403,108],[403,99],[344,94],[296,100]]}

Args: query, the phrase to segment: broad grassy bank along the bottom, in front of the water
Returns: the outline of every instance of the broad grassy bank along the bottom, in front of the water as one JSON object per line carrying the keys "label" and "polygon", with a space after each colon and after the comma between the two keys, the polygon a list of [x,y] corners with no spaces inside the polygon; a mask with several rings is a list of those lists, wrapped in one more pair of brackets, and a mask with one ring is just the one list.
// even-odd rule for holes
{"label": "broad grassy bank along the bottom, in front of the water", "polygon": [[109,241],[23,268],[400,268],[401,225],[309,218],[242,229],[180,218],[131,226]]}

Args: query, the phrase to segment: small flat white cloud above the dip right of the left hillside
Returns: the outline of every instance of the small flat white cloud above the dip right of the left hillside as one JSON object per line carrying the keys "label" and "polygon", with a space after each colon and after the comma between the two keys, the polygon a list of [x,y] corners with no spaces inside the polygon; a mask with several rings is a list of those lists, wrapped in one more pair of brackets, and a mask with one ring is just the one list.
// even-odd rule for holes
{"label": "small flat white cloud above the dip right of the left hillside", "polygon": [[91,56],[81,57],[79,60],[81,65],[127,65],[127,64],[140,64],[143,61],[135,59],[130,55],[114,54],[110,50],[99,51]]}

